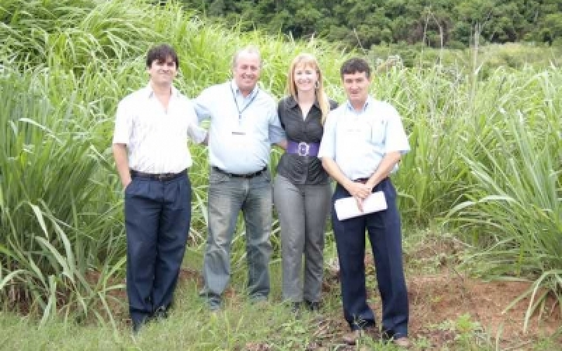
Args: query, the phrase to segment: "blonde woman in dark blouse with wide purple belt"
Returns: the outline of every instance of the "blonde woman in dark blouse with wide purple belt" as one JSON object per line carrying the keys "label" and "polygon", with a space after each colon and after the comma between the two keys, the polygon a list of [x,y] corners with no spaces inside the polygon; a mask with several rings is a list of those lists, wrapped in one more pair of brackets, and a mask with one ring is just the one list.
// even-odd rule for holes
{"label": "blonde woman in dark blouse with wide purple belt", "polygon": [[308,53],[292,60],[287,93],[277,106],[287,134],[287,150],[277,165],[273,185],[281,228],[282,293],[294,312],[302,303],[318,311],[332,191],[317,154],[324,121],[337,104],[327,98],[318,61]]}

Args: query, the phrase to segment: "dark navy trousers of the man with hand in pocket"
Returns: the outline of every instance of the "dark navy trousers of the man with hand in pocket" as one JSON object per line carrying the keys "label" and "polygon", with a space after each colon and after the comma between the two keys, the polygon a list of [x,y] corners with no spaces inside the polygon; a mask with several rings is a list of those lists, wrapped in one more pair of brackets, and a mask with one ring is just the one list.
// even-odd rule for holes
{"label": "dark navy trousers of the man with hand in pocket", "polygon": [[187,174],[133,178],[125,189],[127,296],[133,322],[171,305],[191,220]]}

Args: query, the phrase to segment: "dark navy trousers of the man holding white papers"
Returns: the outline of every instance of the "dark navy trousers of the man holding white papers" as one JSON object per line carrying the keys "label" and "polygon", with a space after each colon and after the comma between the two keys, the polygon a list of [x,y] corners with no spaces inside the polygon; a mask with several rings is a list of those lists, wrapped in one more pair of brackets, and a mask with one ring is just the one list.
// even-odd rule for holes
{"label": "dark navy trousers of the man holding white papers", "polygon": [[[365,230],[369,235],[382,300],[382,329],[388,336],[407,336],[408,297],[402,263],[400,215],[391,180],[373,191],[383,191],[388,208],[365,216],[338,220],[332,204],[332,225],[338,251],[344,317],[351,329],[375,325],[365,288]],[[351,196],[336,186],[333,200]],[[333,201],[332,201],[333,203]]]}

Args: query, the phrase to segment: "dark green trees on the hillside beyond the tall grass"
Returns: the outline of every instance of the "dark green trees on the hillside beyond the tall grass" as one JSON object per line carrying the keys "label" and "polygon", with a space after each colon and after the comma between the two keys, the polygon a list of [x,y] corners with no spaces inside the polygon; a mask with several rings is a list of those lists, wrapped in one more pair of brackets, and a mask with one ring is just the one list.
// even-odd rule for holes
{"label": "dark green trees on the hillside beyond the tall grass", "polygon": [[562,0],[181,0],[242,29],[311,36],[347,46],[405,42],[462,47],[562,40]]}

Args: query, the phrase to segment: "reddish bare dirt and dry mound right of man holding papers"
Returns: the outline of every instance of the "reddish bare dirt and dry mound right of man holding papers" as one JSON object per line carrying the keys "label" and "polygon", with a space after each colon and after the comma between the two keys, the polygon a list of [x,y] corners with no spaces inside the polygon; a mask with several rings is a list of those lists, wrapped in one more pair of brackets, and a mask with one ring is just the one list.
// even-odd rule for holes
{"label": "reddish bare dirt and dry mound right of man holding papers", "polygon": [[[560,331],[561,306],[553,295],[547,294],[542,308],[530,316],[525,327],[530,303],[536,303],[544,291],[538,291],[535,300],[527,296],[509,307],[532,287],[531,282],[487,282],[468,277],[456,269],[457,255],[462,249],[458,242],[453,239],[425,242],[405,254],[407,267],[419,266],[407,274],[412,338],[426,338],[431,348],[440,350],[452,343],[463,328],[469,327],[500,350],[535,350],[538,339]],[[428,266],[434,272],[419,273]],[[467,322],[477,325],[467,326]],[[562,350],[560,336],[558,341],[561,345],[558,350]]]}

